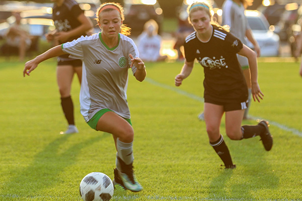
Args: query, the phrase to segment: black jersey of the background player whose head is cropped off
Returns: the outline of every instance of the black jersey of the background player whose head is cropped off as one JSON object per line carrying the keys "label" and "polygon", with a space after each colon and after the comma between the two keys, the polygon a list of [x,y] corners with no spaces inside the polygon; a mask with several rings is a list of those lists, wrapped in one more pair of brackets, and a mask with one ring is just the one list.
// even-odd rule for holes
{"label": "black jersey of the background player whose head is cropped off", "polygon": [[[82,13],[84,13],[84,11],[74,0],[65,0],[60,7],[54,4],[52,8],[52,20],[54,22],[55,28],[60,32],[66,32],[79,27],[81,25],[81,22],[79,22],[77,18]],[[68,41],[60,41],[60,43],[78,39],[82,35],[85,35],[85,33],[69,38]]]}

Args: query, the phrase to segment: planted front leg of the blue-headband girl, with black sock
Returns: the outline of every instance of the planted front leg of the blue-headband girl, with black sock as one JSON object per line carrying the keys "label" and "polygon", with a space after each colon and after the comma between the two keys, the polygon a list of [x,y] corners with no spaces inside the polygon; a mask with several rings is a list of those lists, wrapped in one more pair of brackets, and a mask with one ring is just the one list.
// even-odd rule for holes
{"label": "planted front leg of the blue-headband girl, with black sock", "polygon": [[219,128],[223,113],[223,106],[204,103],[204,119],[210,145],[223,161],[225,168],[235,168],[229,148],[220,134]]}

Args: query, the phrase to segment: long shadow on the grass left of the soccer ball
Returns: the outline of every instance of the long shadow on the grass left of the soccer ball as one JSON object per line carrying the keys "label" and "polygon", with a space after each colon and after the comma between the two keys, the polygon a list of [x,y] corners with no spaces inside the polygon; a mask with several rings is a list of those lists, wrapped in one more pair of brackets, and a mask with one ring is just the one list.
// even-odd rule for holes
{"label": "long shadow on the grass left of the soccer ball", "polygon": [[80,141],[62,151],[61,147],[70,137],[72,135],[60,136],[48,144],[43,151],[38,153],[28,167],[12,170],[16,176],[12,177],[10,181],[3,183],[2,196],[15,198],[38,196],[40,193],[43,193],[43,189],[52,188],[58,183],[65,182],[60,180],[59,175],[66,168],[77,163],[77,157],[81,150],[92,146],[104,138],[111,137],[111,135],[100,133],[96,137]]}

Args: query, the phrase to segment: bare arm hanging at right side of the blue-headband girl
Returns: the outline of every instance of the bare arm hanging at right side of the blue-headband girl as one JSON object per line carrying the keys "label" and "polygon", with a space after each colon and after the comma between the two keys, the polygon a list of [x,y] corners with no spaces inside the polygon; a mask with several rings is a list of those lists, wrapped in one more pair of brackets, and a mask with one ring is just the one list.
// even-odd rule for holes
{"label": "bare arm hanging at right side of the blue-headband girl", "polygon": [[258,64],[257,64],[257,55],[252,49],[243,44],[243,48],[238,52],[238,54],[245,56],[249,60],[249,66],[251,71],[251,82],[252,82],[252,94],[254,101],[256,99],[260,102],[260,99],[263,99],[263,93],[260,90],[258,84]]}

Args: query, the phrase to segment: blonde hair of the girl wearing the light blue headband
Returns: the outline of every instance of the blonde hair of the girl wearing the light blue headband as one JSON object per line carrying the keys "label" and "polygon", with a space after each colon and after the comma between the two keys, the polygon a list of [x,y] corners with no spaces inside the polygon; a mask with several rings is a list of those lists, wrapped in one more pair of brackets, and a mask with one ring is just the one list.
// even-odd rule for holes
{"label": "blonde hair of the girl wearing the light blue headband", "polygon": [[[245,0],[243,0],[243,1],[245,1]],[[196,12],[196,11],[204,11],[210,17],[211,25],[219,27],[219,28],[221,28],[221,29],[223,29],[224,31],[227,31],[227,32],[230,31],[229,26],[220,26],[216,21],[213,20],[213,16],[211,14],[211,13],[214,13],[213,8],[209,3],[205,3],[205,2],[195,2],[191,6],[188,7],[188,9],[187,9],[187,12],[189,14],[188,21],[191,25],[192,25],[192,23],[191,23],[191,13]]]}

